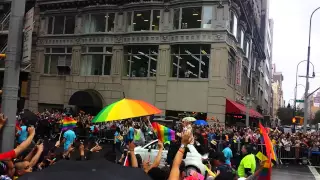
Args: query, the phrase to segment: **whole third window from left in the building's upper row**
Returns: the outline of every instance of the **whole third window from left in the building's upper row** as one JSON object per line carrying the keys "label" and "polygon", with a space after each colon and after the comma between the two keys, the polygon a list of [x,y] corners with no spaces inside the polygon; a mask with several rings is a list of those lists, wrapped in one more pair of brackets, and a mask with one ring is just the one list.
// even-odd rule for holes
{"label": "whole third window from left in the building's upper row", "polygon": [[127,31],[159,31],[160,17],[160,10],[127,12]]}

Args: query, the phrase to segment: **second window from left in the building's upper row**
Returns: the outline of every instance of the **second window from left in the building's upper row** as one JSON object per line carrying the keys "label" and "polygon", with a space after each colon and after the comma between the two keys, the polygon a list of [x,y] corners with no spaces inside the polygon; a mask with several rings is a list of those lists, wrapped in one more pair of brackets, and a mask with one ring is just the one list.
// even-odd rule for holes
{"label": "second window from left in the building's upper row", "polygon": [[114,32],[115,13],[84,15],[84,33]]}

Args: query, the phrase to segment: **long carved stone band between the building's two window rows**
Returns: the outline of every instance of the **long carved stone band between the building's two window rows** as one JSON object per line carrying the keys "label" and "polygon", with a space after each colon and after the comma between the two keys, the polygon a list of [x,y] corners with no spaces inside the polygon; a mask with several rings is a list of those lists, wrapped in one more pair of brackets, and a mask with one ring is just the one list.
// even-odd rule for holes
{"label": "long carved stone band between the building's two window rows", "polygon": [[[105,44],[162,44],[162,43],[193,43],[193,42],[225,42],[226,32],[190,31],[162,34],[128,34],[128,35],[86,35],[73,37],[41,37],[38,46],[73,46],[73,45],[105,45]],[[235,43],[230,43],[235,44]]]}

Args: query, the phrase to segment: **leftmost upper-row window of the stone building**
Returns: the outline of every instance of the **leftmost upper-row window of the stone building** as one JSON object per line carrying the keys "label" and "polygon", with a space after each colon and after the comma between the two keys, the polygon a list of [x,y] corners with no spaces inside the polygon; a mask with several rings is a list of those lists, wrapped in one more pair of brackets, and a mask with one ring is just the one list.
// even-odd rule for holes
{"label": "leftmost upper-row window of the stone building", "polygon": [[47,34],[74,34],[74,16],[50,16],[48,17]]}

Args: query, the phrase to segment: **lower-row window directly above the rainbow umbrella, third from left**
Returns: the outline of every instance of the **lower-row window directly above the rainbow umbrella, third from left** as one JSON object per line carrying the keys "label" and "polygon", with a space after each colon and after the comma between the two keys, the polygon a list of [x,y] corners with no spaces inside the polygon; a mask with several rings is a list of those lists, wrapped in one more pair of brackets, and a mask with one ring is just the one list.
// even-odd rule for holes
{"label": "lower-row window directly above the rainbow umbrella, third from left", "polygon": [[128,46],[125,62],[128,77],[155,77],[157,74],[158,46]]}

